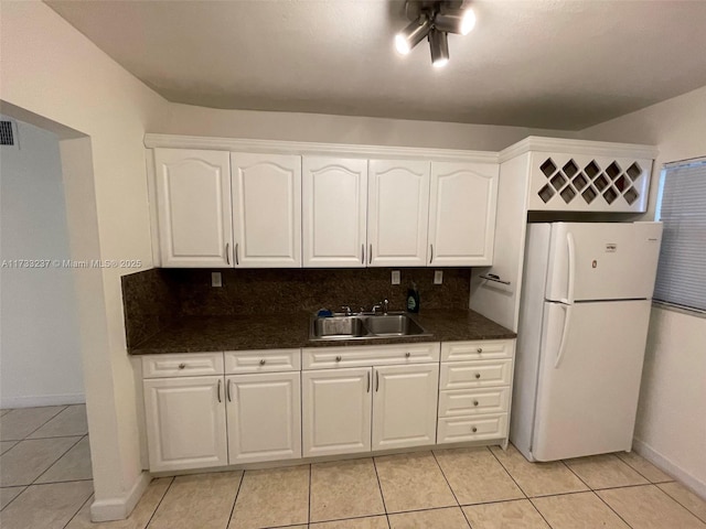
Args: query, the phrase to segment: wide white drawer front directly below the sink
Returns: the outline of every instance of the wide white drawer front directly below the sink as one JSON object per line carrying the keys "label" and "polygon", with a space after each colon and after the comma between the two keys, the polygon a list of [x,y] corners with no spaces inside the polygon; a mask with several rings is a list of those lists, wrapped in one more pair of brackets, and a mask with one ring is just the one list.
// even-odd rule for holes
{"label": "wide white drawer front directly below the sink", "polygon": [[439,361],[439,343],[362,347],[317,347],[302,350],[303,369],[385,366]]}

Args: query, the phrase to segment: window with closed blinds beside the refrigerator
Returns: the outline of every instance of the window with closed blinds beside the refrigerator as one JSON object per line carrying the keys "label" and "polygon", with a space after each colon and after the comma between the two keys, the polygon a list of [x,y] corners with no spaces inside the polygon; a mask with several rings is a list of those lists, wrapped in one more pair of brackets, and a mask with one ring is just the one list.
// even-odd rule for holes
{"label": "window with closed blinds beside the refrigerator", "polygon": [[654,299],[706,312],[706,158],[664,166],[656,220],[664,235]]}

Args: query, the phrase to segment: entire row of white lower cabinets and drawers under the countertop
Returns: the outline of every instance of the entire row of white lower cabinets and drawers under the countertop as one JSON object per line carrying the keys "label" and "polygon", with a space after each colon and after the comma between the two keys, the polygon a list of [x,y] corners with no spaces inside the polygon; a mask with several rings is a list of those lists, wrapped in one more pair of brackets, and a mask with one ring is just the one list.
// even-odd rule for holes
{"label": "entire row of white lower cabinets and drawers under the countertop", "polygon": [[514,339],[145,356],[150,471],[506,443],[513,358]]}

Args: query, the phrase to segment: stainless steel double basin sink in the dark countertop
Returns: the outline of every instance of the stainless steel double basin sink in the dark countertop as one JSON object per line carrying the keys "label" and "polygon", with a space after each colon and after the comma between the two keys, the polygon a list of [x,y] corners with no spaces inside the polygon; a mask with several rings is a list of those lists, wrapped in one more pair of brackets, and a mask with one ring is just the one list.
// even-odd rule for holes
{"label": "stainless steel double basin sink in the dark countertop", "polygon": [[405,313],[334,314],[311,320],[311,339],[370,339],[407,336],[430,336]]}

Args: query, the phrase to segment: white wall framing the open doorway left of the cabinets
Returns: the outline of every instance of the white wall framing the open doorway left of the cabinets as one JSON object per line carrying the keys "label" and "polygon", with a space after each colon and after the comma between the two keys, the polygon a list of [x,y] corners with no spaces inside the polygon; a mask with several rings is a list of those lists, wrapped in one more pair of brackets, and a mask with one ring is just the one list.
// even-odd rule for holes
{"label": "white wall framing the open doorway left of the cabinets", "polygon": [[[164,119],[167,102],[44,3],[1,2],[0,10],[2,111],[62,131],[72,255],[151,267],[142,139]],[[120,276],[133,271],[75,276],[93,514],[101,519],[125,517],[147,484],[120,292]]]}

